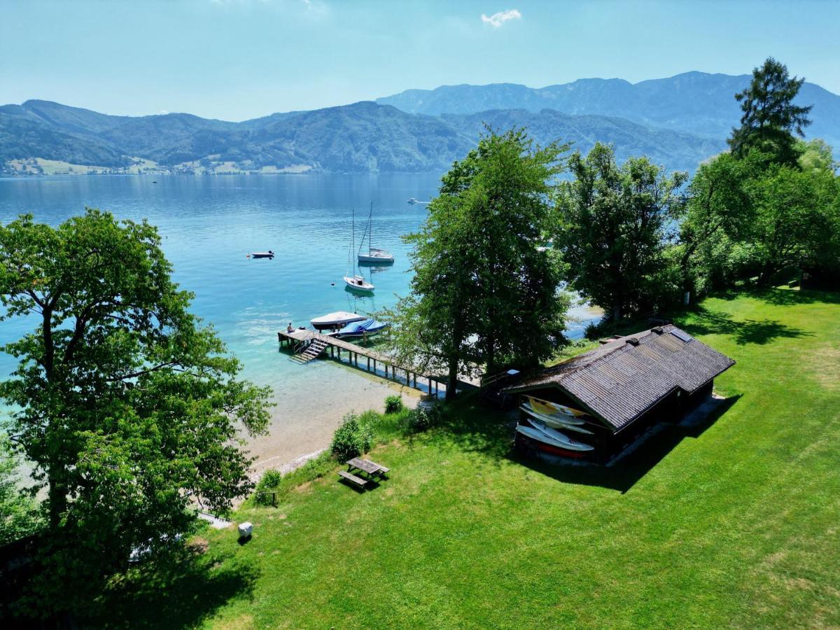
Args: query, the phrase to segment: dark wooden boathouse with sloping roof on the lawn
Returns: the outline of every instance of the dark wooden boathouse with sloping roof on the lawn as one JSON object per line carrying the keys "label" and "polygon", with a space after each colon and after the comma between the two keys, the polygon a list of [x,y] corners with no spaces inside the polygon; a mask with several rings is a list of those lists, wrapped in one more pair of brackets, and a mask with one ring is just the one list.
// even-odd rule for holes
{"label": "dark wooden boathouse with sloping roof on the lawn", "polygon": [[594,446],[593,459],[607,459],[654,424],[679,422],[734,364],[668,324],[612,339],[504,391],[584,412],[586,432],[569,435]]}

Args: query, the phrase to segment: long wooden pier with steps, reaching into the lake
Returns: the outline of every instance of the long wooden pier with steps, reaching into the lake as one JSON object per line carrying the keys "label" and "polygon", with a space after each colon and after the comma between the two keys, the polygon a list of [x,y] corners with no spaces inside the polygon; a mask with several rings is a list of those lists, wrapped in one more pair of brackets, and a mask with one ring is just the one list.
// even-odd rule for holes
{"label": "long wooden pier with steps, reaching into the lake", "polygon": [[[391,381],[401,381],[405,378],[405,383],[414,389],[427,390],[429,394],[438,395],[440,386],[447,386],[445,380],[432,375],[418,374],[410,368],[396,365],[391,357],[386,354],[381,354],[375,350],[362,348],[360,345],[350,344],[344,339],[335,339],[326,334],[317,333],[314,330],[293,330],[291,333],[280,331],[277,333],[277,340],[280,342],[280,347],[290,348],[296,350],[294,356],[301,363],[307,363],[318,358],[321,354],[329,352],[331,359],[341,361],[341,353],[347,353],[349,365],[365,370],[372,374],[378,374],[379,366],[385,371],[385,378]],[[307,352],[308,350],[308,352]],[[359,358],[363,359],[362,365],[359,363]],[[417,380],[420,380],[420,385],[417,386]],[[424,384],[423,381],[426,381]],[[470,386],[469,383],[465,384]]]}

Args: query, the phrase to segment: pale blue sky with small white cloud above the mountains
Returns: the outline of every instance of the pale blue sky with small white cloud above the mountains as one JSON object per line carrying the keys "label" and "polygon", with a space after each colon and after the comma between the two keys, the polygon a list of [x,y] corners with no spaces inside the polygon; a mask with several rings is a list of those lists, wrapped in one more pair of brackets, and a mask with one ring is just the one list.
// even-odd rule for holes
{"label": "pale blue sky with small white cloud above the mountains", "polygon": [[833,0],[0,0],[0,102],[242,120],[444,84],[743,74],[768,55],[840,93],[838,27]]}

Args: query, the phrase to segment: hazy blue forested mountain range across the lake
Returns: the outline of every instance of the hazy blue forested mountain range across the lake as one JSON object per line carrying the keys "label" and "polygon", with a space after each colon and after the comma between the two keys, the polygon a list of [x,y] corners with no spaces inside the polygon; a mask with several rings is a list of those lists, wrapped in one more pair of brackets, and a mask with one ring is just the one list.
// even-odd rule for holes
{"label": "hazy blue forested mountain range across the lake", "polygon": [[[538,143],[571,141],[582,151],[609,142],[619,159],[648,155],[693,171],[726,147],[740,117],[734,94],[749,78],[688,72],[635,84],[444,86],[241,123],[27,101],[0,106],[0,172],[442,172],[485,124],[524,126]],[[798,101],[814,105],[809,137],[840,145],[840,97],[805,83]]]}

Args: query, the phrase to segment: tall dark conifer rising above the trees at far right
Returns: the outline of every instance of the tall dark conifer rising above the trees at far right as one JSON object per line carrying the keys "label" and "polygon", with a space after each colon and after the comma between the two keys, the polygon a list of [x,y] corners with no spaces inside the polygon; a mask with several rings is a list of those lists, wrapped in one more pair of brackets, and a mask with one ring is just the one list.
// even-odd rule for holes
{"label": "tall dark conifer rising above the trees at far right", "polygon": [[781,164],[794,165],[798,156],[794,133],[804,136],[811,124],[811,106],[794,104],[805,79],[788,75],[787,66],[769,57],[753,70],[749,87],[735,98],[741,103],[741,126],[728,140],[732,153],[741,158],[758,149]]}

